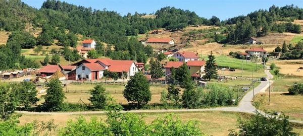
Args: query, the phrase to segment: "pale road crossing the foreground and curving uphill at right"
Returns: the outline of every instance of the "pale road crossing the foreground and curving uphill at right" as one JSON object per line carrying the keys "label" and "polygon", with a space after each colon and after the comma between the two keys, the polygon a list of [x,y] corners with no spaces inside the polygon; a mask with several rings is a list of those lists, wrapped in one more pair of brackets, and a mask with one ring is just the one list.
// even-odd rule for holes
{"label": "pale road crossing the foreground and curving uphill at right", "polygon": [[[267,79],[269,77],[273,78],[273,75],[269,72],[269,66],[267,66],[267,70],[265,73],[267,75]],[[234,112],[247,112],[247,113],[255,113],[256,108],[252,106],[252,96],[254,94],[258,94],[259,92],[265,91],[269,87],[269,81],[262,81],[259,86],[257,86],[254,90],[251,90],[246,93],[246,95],[242,98],[238,106],[233,107],[218,107],[218,108],[207,108],[207,109],[158,109],[158,110],[129,110],[129,111],[121,111],[122,113],[131,112],[131,113],[159,113],[159,112],[190,112],[190,111],[234,111]],[[266,115],[263,111],[259,111],[263,115]],[[28,111],[19,111],[19,113],[24,114],[45,114],[45,115],[72,115],[72,114],[102,114],[105,111],[76,111],[76,112],[28,112]],[[291,122],[303,123],[303,121],[299,120],[290,120]]]}

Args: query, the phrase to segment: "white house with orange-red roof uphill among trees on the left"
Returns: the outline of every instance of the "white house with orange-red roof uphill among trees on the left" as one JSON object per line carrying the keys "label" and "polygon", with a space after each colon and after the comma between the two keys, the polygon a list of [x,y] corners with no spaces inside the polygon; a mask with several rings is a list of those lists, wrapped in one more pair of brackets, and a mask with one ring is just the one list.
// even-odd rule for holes
{"label": "white house with orange-red roof uphill among trees on the left", "polygon": [[87,52],[95,49],[96,42],[91,39],[85,39],[82,41],[82,46],[77,46],[77,50],[82,58],[88,58]]}

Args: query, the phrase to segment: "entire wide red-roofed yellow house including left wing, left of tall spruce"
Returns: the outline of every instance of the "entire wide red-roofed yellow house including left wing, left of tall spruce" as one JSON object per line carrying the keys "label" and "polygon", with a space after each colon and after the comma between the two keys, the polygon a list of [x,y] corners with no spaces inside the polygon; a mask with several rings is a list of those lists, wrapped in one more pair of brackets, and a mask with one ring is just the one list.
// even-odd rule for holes
{"label": "entire wide red-roofed yellow house including left wing, left of tall spruce", "polygon": [[[165,63],[165,77],[171,74],[171,68],[178,69],[183,61],[168,61]],[[205,75],[205,60],[188,60],[185,62],[188,66],[190,76],[192,78],[202,78]]]}

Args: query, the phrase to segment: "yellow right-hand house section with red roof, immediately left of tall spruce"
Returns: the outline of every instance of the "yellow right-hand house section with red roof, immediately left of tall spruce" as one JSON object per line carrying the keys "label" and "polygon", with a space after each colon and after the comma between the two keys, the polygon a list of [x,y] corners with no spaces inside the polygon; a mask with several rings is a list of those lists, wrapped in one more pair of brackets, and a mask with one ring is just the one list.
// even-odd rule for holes
{"label": "yellow right-hand house section with red roof, immediately left of tall spruce", "polygon": [[192,78],[202,78],[205,75],[204,60],[188,60],[186,64]]}

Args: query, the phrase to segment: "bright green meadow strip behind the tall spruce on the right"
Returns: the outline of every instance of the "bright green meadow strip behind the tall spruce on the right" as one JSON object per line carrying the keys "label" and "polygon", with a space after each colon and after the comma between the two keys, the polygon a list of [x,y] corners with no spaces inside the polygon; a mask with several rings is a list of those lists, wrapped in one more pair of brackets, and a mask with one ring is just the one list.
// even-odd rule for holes
{"label": "bright green meadow strip behind the tall spruce on the right", "polygon": [[[242,69],[242,59],[232,58],[225,55],[216,55],[215,57],[216,57],[216,62],[219,66],[230,67],[239,70]],[[203,58],[205,60],[208,59],[207,55],[202,55],[201,59]],[[257,64],[257,69],[258,71],[260,70],[263,71],[263,65]],[[246,60],[243,60],[243,70],[248,70],[248,71],[256,70],[256,63],[251,62],[250,60],[247,60],[247,62]]]}

